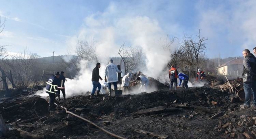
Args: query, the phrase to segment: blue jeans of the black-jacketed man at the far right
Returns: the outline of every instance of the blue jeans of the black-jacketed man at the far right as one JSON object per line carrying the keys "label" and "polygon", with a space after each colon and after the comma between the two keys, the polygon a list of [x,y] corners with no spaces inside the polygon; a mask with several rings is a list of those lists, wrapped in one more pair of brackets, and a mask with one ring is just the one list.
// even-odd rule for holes
{"label": "blue jeans of the black-jacketed man at the far right", "polygon": [[253,104],[256,105],[256,81],[254,83],[244,83],[244,104],[250,106],[251,94],[253,94]]}

